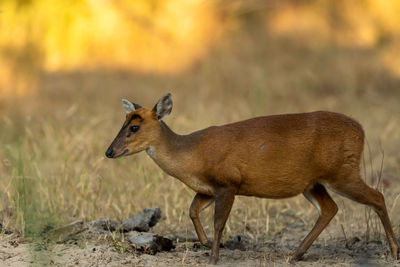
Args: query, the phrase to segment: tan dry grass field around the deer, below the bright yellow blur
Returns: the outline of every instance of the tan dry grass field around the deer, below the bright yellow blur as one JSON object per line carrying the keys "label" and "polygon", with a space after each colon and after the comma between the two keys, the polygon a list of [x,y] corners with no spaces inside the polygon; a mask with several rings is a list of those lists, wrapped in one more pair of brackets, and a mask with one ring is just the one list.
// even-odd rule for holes
{"label": "tan dry grass field around the deer, below the bright yellow blur", "polygon": [[[400,235],[400,81],[374,48],[319,47],[272,37],[257,17],[225,37],[191,69],[174,75],[126,71],[42,72],[38,94],[0,103],[0,210],[3,225],[25,235],[84,218],[123,219],[160,206],[156,231],[194,236],[188,208],[194,192],[164,174],[144,153],[107,160],[119,130],[121,98],[151,107],[172,92],[166,123],[179,133],[252,116],[318,109],[346,113],[365,128],[365,176],[381,179],[390,217]],[[384,166],[381,162],[384,151]],[[381,239],[374,214],[334,197],[340,211],[331,237]],[[212,231],[212,209],[203,216]],[[302,196],[287,200],[237,197],[228,235],[266,240],[293,222],[311,227],[317,213]],[[283,219],[284,218],[284,219]],[[370,219],[368,219],[370,218]],[[344,231],[342,231],[342,229]]]}

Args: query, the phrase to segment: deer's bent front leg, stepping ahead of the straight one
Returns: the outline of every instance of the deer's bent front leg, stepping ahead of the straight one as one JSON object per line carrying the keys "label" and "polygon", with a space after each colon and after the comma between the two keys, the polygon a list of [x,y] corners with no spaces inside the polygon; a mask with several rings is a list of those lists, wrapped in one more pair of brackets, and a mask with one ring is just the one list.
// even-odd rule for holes
{"label": "deer's bent front leg, stepping ahead of the straight one", "polygon": [[213,197],[197,193],[192,201],[192,205],[190,205],[189,211],[190,218],[192,219],[194,229],[196,230],[200,243],[208,248],[211,248],[211,242],[208,241],[207,236],[204,233],[199,214],[202,210],[210,206],[213,201]]}

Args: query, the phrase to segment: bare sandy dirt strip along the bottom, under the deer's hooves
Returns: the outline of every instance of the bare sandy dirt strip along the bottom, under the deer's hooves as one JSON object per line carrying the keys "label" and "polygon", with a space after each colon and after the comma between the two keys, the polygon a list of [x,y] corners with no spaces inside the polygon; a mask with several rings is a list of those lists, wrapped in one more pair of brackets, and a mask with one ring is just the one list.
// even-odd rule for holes
{"label": "bare sandy dirt strip along the bottom, under the deer's hooves", "polygon": [[[262,242],[241,237],[220,250],[219,266],[289,266],[288,255],[310,229],[298,225]],[[170,237],[175,238],[176,237]],[[188,238],[194,240],[195,238]],[[0,243],[1,266],[206,266],[209,250],[196,241],[174,242],[169,252],[149,255],[127,246],[117,251],[115,239],[81,234],[67,242],[38,243],[10,236]],[[382,239],[383,240],[383,239]],[[234,243],[235,244],[235,243]],[[122,246],[120,246],[122,247]],[[238,249],[239,248],[239,249]],[[393,261],[386,241],[366,243],[360,233],[345,240],[322,233],[296,266],[400,266]]]}

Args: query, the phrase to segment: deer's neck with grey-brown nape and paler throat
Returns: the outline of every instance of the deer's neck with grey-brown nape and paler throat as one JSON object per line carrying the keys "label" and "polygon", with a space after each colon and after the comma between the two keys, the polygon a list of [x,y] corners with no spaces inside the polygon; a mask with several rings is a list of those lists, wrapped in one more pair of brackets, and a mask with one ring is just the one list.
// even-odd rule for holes
{"label": "deer's neck with grey-brown nape and paler throat", "polygon": [[160,137],[146,152],[166,173],[184,180],[196,172],[194,148],[201,134],[179,135],[161,121]]}

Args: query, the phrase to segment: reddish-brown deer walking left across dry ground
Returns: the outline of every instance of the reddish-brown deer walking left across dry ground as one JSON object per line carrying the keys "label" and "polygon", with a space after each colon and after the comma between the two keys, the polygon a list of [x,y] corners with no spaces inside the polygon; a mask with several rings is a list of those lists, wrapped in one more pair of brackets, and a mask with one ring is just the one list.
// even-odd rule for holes
{"label": "reddish-brown deer walking left across dry ground", "polygon": [[[282,114],[211,126],[187,135],[172,131],[163,119],[171,113],[168,93],[153,107],[122,100],[126,120],[105,155],[146,151],[168,175],[196,192],[189,216],[202,245],[216,264],[223,229],[236,195],[284,199],[303,194],[319,217],[290,262],[301,260],[338,211],[327,188],[368,205],[380,218],[391,256],[399,246],[379,191],[360,174],[364,131],[354,119],[329,111]],[[212,203],[214,239],[208,240],[199,214]]]}

